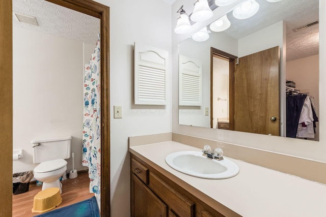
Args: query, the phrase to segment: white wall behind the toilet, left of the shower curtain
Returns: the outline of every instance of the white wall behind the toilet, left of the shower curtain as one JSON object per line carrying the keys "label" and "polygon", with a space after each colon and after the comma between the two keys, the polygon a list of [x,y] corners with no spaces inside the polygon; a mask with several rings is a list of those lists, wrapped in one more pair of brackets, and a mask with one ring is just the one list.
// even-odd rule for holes
{"label": "white wall behind the toilet, left of the shower curtain", "polygon": [[[94,48],[87,51],[89,58]],[[13,28],[13,149],[23,149],[13,173],[37,166],[31,140],[62,136],[72,136],[75,169],[86,169],[81,163],[84,55],[83,42]],[[70,171],[72,158],[67,161]]]}

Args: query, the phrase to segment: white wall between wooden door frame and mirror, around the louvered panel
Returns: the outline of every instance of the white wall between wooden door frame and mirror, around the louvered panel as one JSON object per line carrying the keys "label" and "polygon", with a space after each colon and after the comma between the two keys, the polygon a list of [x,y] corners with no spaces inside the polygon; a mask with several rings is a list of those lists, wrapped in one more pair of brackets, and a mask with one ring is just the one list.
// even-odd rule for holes
{"label": "white wall between wooden door frame and mirror, around the louvered panel", "polygon": [[[171,5],[161,0],[96,0],[110,7],[111,216],[130,216],[128,137],[172,131]],[[133,43],[169,51],[166,106],[133,103]],[[122,106],[122,119],[113,106]]]}

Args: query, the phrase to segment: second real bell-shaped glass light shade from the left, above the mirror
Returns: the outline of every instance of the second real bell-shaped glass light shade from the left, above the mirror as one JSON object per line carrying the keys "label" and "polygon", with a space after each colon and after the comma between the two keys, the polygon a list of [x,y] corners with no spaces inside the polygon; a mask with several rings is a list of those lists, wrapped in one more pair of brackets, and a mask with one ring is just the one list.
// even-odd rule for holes
{"label": "second real bell-shaped glass light shade from the left, above the mirror", "polygon": [[194,5],[194,12],[190,16],[191,20],[201,22],[213,16],[213,12],[209,8],[207,0],[196,0]]}

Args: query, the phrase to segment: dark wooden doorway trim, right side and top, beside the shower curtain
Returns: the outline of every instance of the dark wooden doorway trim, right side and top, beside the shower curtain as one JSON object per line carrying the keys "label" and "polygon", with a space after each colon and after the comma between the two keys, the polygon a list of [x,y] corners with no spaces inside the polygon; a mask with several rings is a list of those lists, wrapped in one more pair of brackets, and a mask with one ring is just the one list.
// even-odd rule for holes
{"label": "dark wooden doorway trim, right side and top, beside the shower curtain", "polygon": [[46,0],[100,19],[101,40],[101,216],[110,216],[110,8],[91,0]]}

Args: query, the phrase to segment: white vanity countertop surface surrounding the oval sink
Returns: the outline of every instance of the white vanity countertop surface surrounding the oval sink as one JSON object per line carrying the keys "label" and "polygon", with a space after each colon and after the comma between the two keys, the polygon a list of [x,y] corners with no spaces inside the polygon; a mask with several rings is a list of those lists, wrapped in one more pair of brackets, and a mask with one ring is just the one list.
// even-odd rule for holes
{"label": "white vanity countertop surface surrounding the oval sink", "polygon": [[[133,146],[129,150],[242,216],[326,216],[324,184],[231,158],[228,159],[235,162],[240,170],[232,178],[189,176],[172,169],[165,158],[175,151],[201,149],[174,141]],[[227,156],[227,153],[224,154]]]}

